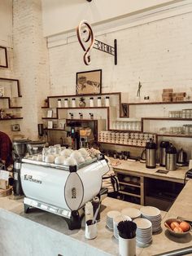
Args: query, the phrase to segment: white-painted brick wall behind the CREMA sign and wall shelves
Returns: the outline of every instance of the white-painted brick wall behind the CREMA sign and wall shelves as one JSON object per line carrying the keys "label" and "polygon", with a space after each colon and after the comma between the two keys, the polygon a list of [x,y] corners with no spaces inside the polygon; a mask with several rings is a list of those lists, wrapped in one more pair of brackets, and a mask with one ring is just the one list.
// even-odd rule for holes
{"label": "white-painted brick wall behind the CREMA sign and wall shelves", "polygon": [[[175,92],[186,91],[192,99],[190,24],[192,14],[187,13],[97,37],[108,44],[117,39],[117,66],[111,55],[96,50],[91,54],[92,63],[85,66],[78,42],[50,48],[51,95],[75,94],[76,72],[102,68],[103,92],[128,92],[127,102],[137,100],[139,81],[142,82],[142,99],[144,95],[149,95],[151,101],[161,100],[163,88],[173,88]],[[189,107],[192,108],[185,106]],[[175,108],[179,110],[177,106]],[[159,113],[156,115],[158,117]],[[178,123],[172,126],[178,126]],[[177,148],[185,144],[184,148],[190,155],[192,139],[172,140]]]}

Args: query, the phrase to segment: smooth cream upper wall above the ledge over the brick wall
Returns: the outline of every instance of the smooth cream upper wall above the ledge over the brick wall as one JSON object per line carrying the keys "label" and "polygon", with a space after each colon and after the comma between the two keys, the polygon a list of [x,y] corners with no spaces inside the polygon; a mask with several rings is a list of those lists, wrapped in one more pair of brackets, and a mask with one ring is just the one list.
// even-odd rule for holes
{"label": "smooth cream upper wall above the ledge over the brick wall", "polygon": [[41,0],[44,35],[68,32],[76,28],[81,20],[91,24],[118,20],[133,13],[162,7],[185,0]]}

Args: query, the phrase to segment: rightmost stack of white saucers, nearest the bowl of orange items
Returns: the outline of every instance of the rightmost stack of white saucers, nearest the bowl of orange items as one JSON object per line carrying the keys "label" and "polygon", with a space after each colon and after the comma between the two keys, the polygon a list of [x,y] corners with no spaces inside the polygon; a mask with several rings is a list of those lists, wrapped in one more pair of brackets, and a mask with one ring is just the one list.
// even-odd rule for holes
{"label": "rightmost stack of white saucers, nearest the bowl of orange items", "polygon": [[152,231],[160,232],[161,231],[161,214],[158,208],[153,206],[142,206],[140,209],[142,213],[142,218],[147,218],[152,223]]}

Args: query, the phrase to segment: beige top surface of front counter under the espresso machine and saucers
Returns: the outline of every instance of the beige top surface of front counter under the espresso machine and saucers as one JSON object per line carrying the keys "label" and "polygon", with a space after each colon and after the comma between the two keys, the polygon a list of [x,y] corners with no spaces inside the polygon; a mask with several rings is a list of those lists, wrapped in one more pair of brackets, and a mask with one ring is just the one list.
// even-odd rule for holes
{"label": "beige top surface of front counter under the espresso machine and saucers", "polygon": [[[162,232],[158,235],[153,235],[153,242],[147,248],[137,247],[137,255],[154,255],[160,254],[164,251],[180,249],[192,245],[192,236],[188,234],[185,238],[177,238],[171,236],[164,227],[164,220],[167,218],[175,218],[181,216],[187,219],[192,219],[192,201],[190,195],[192,194],[192,179],[190,179],[185,188],[181,191],[177,200],[172,205],[171,209],[166,212],[162,212]],[[80,230],[69,230],[67,223],[62,217],[55,214],[50,214],[42,210],[34,209],[29,214],[24,214],[23,200],[14,200],[13,196],[0,198],[0,210],[8,210],[13,214],[18,214],[20,217],[27,218],[35,223],[39,223],[45,227],[51,228],[63,235],[70,236],[74,242],[81,241],[85,245],[93,246],[103,253],[118,255],[118,242],[113,237],[111,232],[106,227],[106,216],[109,210],[122,210],[125,207],[135,207],[139,209],[141,205],[135,205],[126,201],[116,200],[107,197],[102,203],[101,220],[98,222],[98,236],[94,240],[87,240],[85,238],[85,220],[82,221],[82,227]],[[164,246],[166,245],[166,247]]]}

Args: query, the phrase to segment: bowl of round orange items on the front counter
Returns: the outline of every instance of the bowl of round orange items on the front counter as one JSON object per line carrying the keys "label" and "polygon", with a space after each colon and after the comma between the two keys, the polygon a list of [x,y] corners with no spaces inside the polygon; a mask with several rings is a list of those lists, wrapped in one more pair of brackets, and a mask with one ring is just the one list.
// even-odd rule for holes
{"label": "bowl of round orange items on the front counter", "polygon": [[179,218],[168,218],[164,226],[172,236],[182,237],[191,232],[190,224]]}

